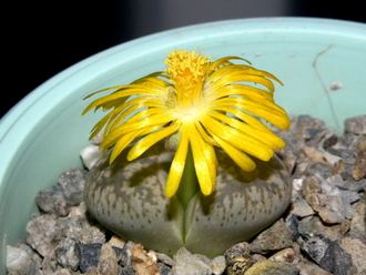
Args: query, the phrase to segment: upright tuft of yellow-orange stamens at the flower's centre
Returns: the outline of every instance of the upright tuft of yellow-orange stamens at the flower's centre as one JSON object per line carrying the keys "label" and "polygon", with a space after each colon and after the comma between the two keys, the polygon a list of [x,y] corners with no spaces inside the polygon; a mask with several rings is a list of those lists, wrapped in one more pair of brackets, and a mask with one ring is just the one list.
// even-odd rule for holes
{"label": "upright tuft of yellow-orange stamens at the flower's centre", "polygon": [[172,91],[175,106],[187,113],[201,102],[202,83],[206,78],[206,64],[210,59],[192,51],[172,51],[167,54],[165,73],[169,74],[175,90]]}

